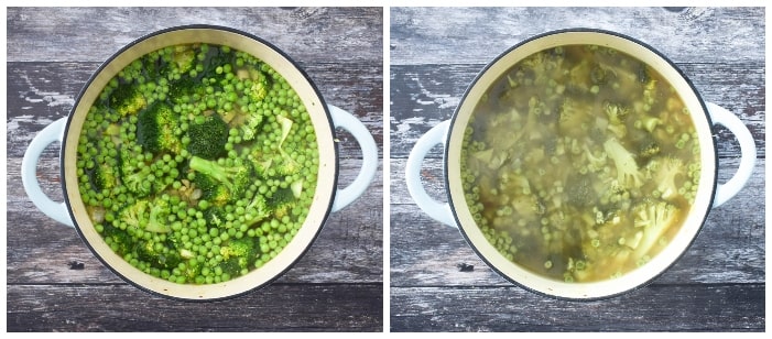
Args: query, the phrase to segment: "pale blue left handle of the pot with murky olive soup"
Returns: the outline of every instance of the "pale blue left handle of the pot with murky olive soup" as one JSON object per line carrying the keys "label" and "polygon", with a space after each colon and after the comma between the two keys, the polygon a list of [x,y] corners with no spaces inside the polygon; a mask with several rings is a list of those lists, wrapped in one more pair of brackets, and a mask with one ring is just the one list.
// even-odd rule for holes
{"label": "pale blue left handle of the pot with murky olive soup", "polygon": [[428,130],[426,134],[418,138],[418,141],[415,142],[415,146],[410,151],[410,156],[407,156],[405,184],[407,185],[407,192],[411,197],[413,197],[415,204],[418,205],[425,214],[434,220],[457,228],[456,220],[453,218],[450,205],[447,203],[439,203],[430,197],[426,189],[424,189],[424,186],[421,184],[421,165],[424,162],[424,157],[435,145],[442,144],[445,146],[445,136],[447,135],[450,120],[443,121]]}

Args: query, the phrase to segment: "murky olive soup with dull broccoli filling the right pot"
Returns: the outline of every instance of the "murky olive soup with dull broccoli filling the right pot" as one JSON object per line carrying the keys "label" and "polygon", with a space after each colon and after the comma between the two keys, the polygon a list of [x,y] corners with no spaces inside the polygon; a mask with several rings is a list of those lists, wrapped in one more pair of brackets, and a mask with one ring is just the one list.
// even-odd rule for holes
{"label": "murky olive soup with dull broccoli filling the right pot", "polygon": [[678,231],[699,181],[689,111],[619,51],[564,45],[509,68],[465,130],[467,205],[501,255],[565,282],[645,265]]}

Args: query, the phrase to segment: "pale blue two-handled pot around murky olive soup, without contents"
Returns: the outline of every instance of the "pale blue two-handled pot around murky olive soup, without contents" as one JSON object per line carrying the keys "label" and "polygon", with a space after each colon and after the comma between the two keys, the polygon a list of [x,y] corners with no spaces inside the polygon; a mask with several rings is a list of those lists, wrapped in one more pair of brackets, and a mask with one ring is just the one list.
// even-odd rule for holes
{"label": "pale blue two-handled pot around murky olive soup, without contents", "polygon": [[[697,197],[683,227],[670,244],[648,264],[621,277],[592,283],[565,283],[531,273],[499,254],[483,237],[469,212],[460,178],[461,142],[475,106],[502,74],[521,59],[546,48],[572,44],[595,44],[634,56],[662,74],[681,95],[692,112],[702,147],[702,174]],[[735,176],[726,184],[716,182],[718,168],[713,125],[721,124],[738,139],[742,157]],[[447,203],[434,200],[421,184],[420,171],[428,151],[442,144]],[[575,29],[548,32],[511,47],[488,64],[466,90],[450,120],[422,135],[411,151],[406,165],[406,184],[416,204],[433,219],[458,227],[475,252],[490,267],[510,282],[532,292],[564,299],[599,299],[644,286],[673,265],[699,233],[708,211],[733,197],[748,182],[755,162],[755,145],[748,128],[735,114],[714,103],[706,103],[686,76],[653,47],[619,33]]]}

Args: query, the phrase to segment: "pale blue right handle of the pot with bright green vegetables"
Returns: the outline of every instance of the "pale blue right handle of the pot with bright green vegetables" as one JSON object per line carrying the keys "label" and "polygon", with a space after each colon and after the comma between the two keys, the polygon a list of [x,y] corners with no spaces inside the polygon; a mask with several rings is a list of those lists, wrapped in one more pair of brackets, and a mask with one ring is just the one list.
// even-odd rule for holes
{"label": "pale blue right handle of the pot with bright green vegetables", "polygon": [[378,146],[372,139],[372,134],[370,134],[365,124],[354,117],[354,114],[333,105],[327,105],[327,107],[333,117],[333,124],[335,124],[336,128],[341,128],[351,133],[357,140],[357,143],[359,143],[359,149],[362,151],[362,167],[359,170],[359,174],[348,187],[338,189],[335,195],[333,211],[338,211],[359,198],[376,177],[376,171],[378,170]]}

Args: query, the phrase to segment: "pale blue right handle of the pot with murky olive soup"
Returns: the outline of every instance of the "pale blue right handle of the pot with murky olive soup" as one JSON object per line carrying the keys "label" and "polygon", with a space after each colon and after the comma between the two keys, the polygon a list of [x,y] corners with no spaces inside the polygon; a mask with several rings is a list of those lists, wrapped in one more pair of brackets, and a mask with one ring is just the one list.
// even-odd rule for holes
{"label": "pale blue right handle of the pot with murky olive soup", "polygon": [[755,143],[750,130],[742,123],[740,118],[727,109],[711,102],[706,102],[710,118],[715,124],[726,127],[737,141],[740,143],[740,166],[737,173],[725,184],[718,184],[716,187],[716,197],[713,200],[713,207],[721,206],[727,200],[737,195],[753,173],[755,165]]}

